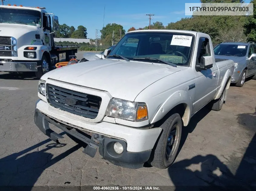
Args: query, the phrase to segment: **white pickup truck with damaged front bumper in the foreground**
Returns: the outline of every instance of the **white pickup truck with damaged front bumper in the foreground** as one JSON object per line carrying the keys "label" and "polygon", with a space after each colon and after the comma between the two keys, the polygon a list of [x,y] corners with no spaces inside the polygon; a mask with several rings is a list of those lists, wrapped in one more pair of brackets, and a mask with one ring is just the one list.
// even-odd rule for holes
{"label": "white pickup truck with damaged front bumper in the foreground", "polygon": [[182,127],[208,103],[221,109],[234,71],[232,60],[215,62],[210,36],[194,31],[131,31],[104,56],[43,75],[35,124],[58,143],[52,123],[86,143],[85,154],[98,149],[128,168],[169,167]]}

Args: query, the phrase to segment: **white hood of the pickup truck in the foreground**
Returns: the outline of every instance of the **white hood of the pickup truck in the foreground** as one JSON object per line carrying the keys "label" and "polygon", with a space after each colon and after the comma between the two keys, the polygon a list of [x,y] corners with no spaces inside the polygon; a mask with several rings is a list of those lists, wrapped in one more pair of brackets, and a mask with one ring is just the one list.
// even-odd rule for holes
{"label": "white hood of the pickup truck in the foreground", "polygon": [[113,97],[133,101],[150,84],[180,71],[181,68],[183,67],[174,68],[148,62],[102,59],[57,68],[43,75],[41,79],[46,81],[51,78],[104,90]]}

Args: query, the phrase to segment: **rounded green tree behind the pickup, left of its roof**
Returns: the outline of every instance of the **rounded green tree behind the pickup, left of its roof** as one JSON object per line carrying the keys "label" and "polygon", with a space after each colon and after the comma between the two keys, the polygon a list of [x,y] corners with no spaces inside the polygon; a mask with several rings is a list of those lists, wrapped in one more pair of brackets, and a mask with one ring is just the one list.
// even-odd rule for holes
{"label": "rounded green tree behind the pickup, left of its roof", "polygon": [[122,25],[116,23],[108,23],[105,27],[103,27],[101,32],[101,39],[106,39],[107,35],[111,34],[114,31],[114,40],[120,39],[120,30],[121,30],[121,37],[125,35],[125,30]]}

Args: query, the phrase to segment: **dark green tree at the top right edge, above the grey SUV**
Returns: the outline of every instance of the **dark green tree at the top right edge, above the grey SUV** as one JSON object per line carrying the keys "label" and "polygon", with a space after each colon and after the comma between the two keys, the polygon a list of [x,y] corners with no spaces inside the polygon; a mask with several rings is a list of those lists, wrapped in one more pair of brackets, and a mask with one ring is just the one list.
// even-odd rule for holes
{"label": "dark green tree at the top right edge, above the grey SUV", "polygon": [[252,0],[253,15],[248,16],[244,22],[244,34],[247,35],[248,41],[256,42],[256,0]]}

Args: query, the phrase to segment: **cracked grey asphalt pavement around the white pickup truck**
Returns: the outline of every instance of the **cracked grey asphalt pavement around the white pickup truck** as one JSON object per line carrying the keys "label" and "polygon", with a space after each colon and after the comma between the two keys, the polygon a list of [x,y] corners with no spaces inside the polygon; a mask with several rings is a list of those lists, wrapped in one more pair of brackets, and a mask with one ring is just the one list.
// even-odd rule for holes
{"label": "cracked grey asphalt pavement around the white pickup truck", "polygon": [[98,152],[91,158],[51,125],[64,136],[55,144],[34,124],[37,83],[33,74],[0,72],[0,186],[256,186],[255,80],[231,86],[221,111],[204,107],[193,116],[165,170],[115,166]]}

